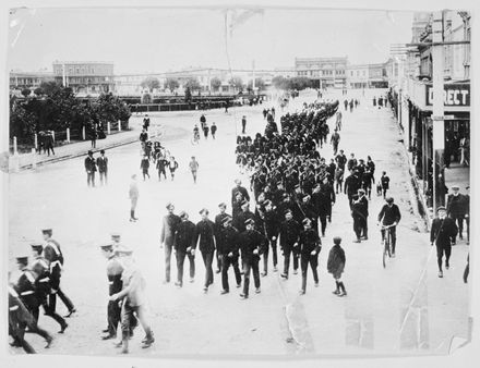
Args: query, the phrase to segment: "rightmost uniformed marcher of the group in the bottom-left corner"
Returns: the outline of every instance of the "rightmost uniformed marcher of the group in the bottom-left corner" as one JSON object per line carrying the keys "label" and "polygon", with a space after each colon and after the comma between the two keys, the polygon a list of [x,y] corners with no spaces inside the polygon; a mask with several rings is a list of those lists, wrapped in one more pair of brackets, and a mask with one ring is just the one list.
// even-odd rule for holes
{"label": "rightmost uniformed marcher of the group in the bottom-left corner", "polygon": [[41,230],[44,234],[44,241],[46,242],[44,246],[43,256],[48,260],[50,267],[50,285],[51,285],[51,294],[49,296],[49,307],[51,312],[55,312],[57,309],[57,295],[63,302],[65,307],[69,309],[69,312],[64,317],[70,317],[72,314],[76,311],[73,306],[72,300],[63,293],[60,289],[60,277],[61,270],[63,268],[63,254],[60,249],[60,244],[51,238],[52,230],[44,229]]}

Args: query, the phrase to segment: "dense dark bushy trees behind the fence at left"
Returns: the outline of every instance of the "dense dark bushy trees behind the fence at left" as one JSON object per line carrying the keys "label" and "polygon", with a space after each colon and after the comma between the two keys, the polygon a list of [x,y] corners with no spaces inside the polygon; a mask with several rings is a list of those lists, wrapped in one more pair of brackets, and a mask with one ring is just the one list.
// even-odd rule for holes
{"label": "dense dark bushy trees behind the fence at left", "polygon": [[10,136],[33,139],[40,131],[81,131],[83,126],[107,122],[128,121],[129,107],[111,93],[94,100],[75,98],[73,90],[55,82],[47,82],[34,90],[35,96],[22,94],[25,100],[10,98]]}

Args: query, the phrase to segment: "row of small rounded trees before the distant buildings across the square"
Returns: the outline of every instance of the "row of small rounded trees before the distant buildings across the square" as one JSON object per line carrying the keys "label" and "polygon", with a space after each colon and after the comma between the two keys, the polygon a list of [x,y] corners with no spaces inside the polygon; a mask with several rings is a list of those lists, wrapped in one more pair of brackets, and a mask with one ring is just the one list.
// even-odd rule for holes
{"label": "row of small rounded trees before the distant buildings across the square", "polygon": [[[219,77],[213,77],[211,79],[211,87],[213,91],[218,91],[221,87],[221,79]],[[251,91],[253,89],[252,81],[250,81],[247,85],[243,83],[242,78],[239,76],[233,76],[228,81],[228,84],[233,87],[238,91],[243,91],[244,89]],[[142,81],[140,84],[142,88],[148,89],[151,93],[154,89],[161,88],[160,81],[155,76],[148,76]],[[177,78],[167,78],[165,81],[165,88],[169,89],[171,93],[175,93],[180,87],[180,82]],[[182,87],[185,90],[190,91],[199,91],[202,89],[202,86],[197,78],[190,77],[182,82]],[[259,90],[265,89],[265,82],[262,78],[255,78],[255,88]]]}

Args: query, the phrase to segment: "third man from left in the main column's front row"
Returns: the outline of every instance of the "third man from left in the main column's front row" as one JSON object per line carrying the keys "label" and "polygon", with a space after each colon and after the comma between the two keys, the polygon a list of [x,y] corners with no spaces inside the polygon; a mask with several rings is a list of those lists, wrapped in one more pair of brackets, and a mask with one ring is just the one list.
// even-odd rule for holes
{"label": "third man from left in the main column's front row", "polygon": [[202,253],[203,262],[205,265],[205,285],[203,291],[206,293],[208,286],[214,283],[214,271],[212,262],[215,253],[215,224],[208,220],[208,210],[203,208],[200,212],[202,220],[196,223],[195,244],[199,243],[199,249]]}

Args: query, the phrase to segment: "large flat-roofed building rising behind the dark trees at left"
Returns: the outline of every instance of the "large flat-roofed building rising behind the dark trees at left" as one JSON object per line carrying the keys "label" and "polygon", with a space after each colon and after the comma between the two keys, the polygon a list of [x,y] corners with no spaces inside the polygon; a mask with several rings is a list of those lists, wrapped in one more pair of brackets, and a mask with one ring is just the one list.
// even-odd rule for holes
{"label": "large flat-roofed building rising behind the dark trees at left", "polygon": [[97,95],[115,90],[113,63],[96,61],[55,61],[55,81],[76,94]]}

